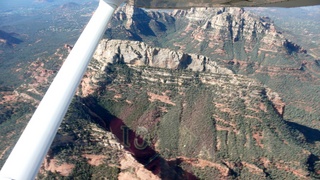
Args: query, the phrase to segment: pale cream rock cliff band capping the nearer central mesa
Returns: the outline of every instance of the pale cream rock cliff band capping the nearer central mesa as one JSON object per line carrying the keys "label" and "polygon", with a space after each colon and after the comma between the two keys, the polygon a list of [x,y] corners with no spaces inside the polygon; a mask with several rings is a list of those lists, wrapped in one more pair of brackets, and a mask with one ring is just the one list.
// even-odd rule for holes
{"label": "pale cream rock cliff band capping the nearer central mesa", "polygon": [[101,61],[102,68],[108,63],[125,63],[133,66],[232,74],[232,71],[218,66],[215,61],[205,56],[155,48],[137,41],[104,39],[98,45],[94,58]]}

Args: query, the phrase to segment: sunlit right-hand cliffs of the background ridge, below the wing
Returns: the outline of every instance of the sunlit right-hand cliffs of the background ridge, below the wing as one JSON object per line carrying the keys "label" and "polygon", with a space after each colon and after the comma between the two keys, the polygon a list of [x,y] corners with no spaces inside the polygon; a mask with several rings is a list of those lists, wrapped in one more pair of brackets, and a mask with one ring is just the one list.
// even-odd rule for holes
{"label": "sunlit right-hand cliffs of the background ridge, below the wing", "polygon": [[192,49],[186,44],[191,43],[207,56],[244,61],[257,61],[263,53],[306,53],[300,46],[293,46],[270,18],[243,8],[192,8],[176,10],[172,16],[188,23],[175,39],[175,45],[188,51]]}

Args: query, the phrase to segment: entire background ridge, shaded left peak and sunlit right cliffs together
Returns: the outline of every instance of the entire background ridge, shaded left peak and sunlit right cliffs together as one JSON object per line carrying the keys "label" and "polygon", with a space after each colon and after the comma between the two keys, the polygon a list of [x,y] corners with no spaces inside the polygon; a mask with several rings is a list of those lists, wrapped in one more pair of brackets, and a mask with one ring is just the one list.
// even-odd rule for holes
{"label": "entire background ridge, shaded left peak and sunlit right cliffs together", "polygon": [[[125,24],[120,25],[119,20]],[[286,39],[270,18],[256,16],[243,8],[191,8],[159,13],[126,5],[117,11],[113,23],[133,34],[136,40],[223,60],[256,61],[259,57],[270,61],[261,54],[306,53]],[[119,31],[114,32],[112,37],[124,38],[116,34]]]}

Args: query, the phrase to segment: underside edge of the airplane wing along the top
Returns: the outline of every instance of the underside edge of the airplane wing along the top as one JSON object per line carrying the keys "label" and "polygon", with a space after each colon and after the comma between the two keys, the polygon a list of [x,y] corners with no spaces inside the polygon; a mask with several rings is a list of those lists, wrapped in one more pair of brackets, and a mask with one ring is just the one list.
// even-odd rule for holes
{"label": "underside edge of the airplane wing along the top", "polygon": [[128,0],[136,7],[181,9],[190,7],[299,7],[320,5],[320,0]]}

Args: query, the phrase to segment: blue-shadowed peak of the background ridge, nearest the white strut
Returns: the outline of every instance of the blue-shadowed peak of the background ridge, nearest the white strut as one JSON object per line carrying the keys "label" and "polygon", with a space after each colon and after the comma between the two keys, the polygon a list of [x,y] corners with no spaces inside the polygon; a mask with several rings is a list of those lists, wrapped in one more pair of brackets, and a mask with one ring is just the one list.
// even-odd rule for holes
{"label": "blue-shadowed peak of the background ridge, nearest the white strut", "polygon": [[161,42],[152,39],[165,37],[174,27],[175,19],[166,12],[146,11],[124,5],[114,13],[105,37],[112,39],[138,40],[160,46]]}

